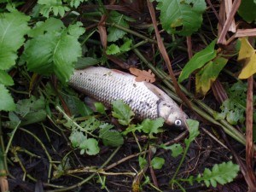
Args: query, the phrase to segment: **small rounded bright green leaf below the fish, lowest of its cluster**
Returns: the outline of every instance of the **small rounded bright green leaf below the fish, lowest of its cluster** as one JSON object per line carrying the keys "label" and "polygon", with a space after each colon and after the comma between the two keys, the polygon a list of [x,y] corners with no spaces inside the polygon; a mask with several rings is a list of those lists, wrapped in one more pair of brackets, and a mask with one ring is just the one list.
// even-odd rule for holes
{"label": "small rounded bright green leaf below the fish, lowest of its cluster", "polygon": [[95,155],[100,152],[98,142],[94,138],[84,140],[82,143],[80,143],[79,148],[82,149],[80,154],[84,154],[84,151],[89,155]]}

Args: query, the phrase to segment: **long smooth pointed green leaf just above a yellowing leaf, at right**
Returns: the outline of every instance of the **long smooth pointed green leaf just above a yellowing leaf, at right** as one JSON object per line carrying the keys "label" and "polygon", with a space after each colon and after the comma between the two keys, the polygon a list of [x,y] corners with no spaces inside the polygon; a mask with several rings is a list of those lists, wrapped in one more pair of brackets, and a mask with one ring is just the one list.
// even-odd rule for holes
{"label": "long smooth pointed green leaf just above a yellowing leaf, at right", "polygon": [[195,69],[203,67],[208,61],[211,61],[216,57],[216,50],[214,46],[216,40],[212,41],[211,44],[207,46],[206,49],[202,49],[200,52],[196,53],[190,61],[183,67],[182,73],[178,78],[178,82],[183,82],[184,79],[188,79],[189,75],[195,71]]}

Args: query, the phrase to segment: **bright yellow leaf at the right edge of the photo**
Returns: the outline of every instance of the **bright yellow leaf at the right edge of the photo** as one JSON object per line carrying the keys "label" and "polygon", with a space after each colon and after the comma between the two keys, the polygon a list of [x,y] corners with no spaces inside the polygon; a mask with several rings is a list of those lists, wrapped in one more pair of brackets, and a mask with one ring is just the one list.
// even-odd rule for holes
{"label": "bright yellow leaf at the right edge of the photo", "polygon": [[237,60],[243,61],[244,67],[241,69],[239,79],[247,79],[256,73],[256,55],[252,45],[247,38],[241,38],[241,48]]}

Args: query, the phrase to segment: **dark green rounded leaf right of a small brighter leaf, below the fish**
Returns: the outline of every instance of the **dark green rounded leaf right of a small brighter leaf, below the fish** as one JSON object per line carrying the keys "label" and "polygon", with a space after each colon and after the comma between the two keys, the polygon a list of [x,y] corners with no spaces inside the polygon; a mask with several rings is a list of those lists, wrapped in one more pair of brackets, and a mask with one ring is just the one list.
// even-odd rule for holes
{"label": "dark green rounded leaf right of a small brighter leaf, below the fish", "polygon": [[124,138],[121,136],[119,131],[111,130],[113,125],[103,124],[101,125],[100,135],[103,144],[105,146],[119,147],[124,143]]}

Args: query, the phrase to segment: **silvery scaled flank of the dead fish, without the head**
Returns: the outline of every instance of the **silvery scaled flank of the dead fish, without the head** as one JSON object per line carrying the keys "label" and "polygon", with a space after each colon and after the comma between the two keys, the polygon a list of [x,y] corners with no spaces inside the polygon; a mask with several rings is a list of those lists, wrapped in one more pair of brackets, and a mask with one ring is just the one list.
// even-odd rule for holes
{"label": "silvery scaled flank of the dead fish, without the head", "polygon": [[110,106],[111,102],[121,99],[131,107],[137,119],[159,117],[156,96],[145,82],[136,82],[135,77],[104,67],[89,67],[75,71],[69,84],[76,90]]}

